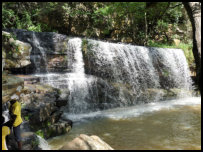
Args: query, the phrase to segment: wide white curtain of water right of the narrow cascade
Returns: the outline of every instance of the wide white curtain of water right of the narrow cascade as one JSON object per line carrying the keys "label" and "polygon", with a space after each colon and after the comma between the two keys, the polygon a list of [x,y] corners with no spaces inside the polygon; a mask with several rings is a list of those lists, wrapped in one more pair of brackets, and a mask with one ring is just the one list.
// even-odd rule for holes
{"label": "wide white curtain of water right of the narrow cascade", "polygon": [[[180,49],[148,48],[96,40],[89,40],[89,45],[96,58],[92,64],[101,69],[96,71],[100,72],[98,76],[128,83],[136,93],[147,88],[191,88],[188,65]],[[91,70],[90,73],[95,73],[95,69]],[[168,84],[162,82],[164,77],[167,77]]]}

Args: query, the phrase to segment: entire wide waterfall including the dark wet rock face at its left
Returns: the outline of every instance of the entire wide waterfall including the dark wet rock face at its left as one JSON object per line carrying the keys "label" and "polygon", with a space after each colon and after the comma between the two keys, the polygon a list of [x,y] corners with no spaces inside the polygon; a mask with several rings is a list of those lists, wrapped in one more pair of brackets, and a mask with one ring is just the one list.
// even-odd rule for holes
{"label": "entire wide waterfall including the dark wet rock face at its left", "polygon": [[[35,75],[41,83],[61,89],[61,97],[68,100],[68,113],[156,102],[164,100],[167,91],[179,90],[181,97],[193,89],[181,49],[109,43],[46,32],[17,32],[17,37],[32,44]],[[56,65],[54,70],[45,69],[42,74],[41,67],[50,65],[55,55],[67,58],[66,70],[60,71]]]}

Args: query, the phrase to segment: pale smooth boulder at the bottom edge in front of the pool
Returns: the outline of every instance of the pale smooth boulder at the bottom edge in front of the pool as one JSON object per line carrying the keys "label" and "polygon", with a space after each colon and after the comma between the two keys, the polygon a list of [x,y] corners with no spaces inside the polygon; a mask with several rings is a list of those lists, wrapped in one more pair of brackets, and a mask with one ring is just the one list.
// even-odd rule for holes
{"label": "pale smooth boulder at the bottom edge in front of the pool", "polygon": [[113,150],[113,148],[98,136],[80,134],[60,150]]}

